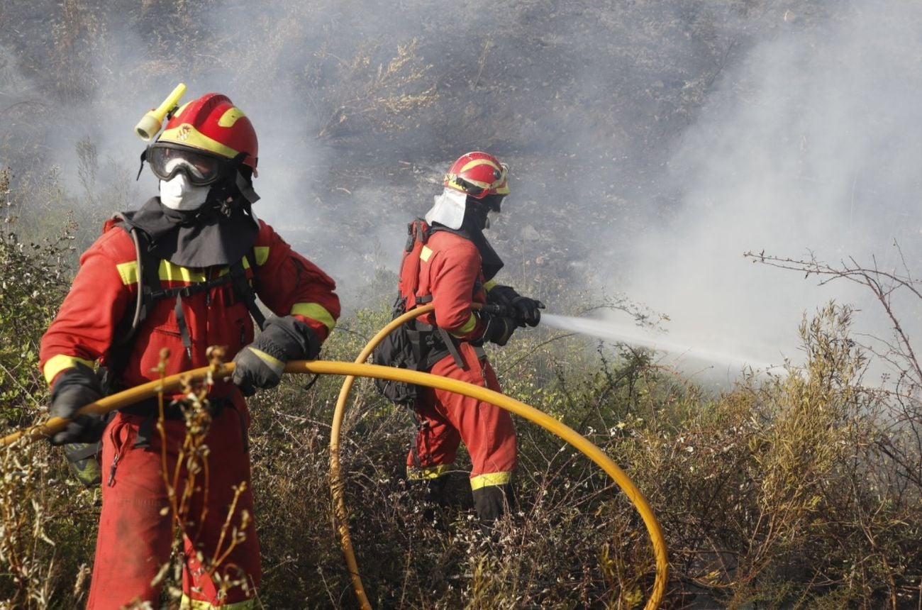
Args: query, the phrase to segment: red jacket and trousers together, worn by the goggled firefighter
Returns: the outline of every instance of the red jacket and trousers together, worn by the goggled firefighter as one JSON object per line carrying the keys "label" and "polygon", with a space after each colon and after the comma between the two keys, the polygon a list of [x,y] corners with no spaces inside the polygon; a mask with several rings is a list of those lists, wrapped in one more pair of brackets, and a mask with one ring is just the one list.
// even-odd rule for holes
{"label": "red jacket and trousers together, worn by the goggled firefighter", "polygon": [[[255,268],[246,266],[259,299],[279,316],[293,315],[311,326],[324,340],[339,315],[335,284],[263,222],[254,242]],[[227,265],[187,268],[160,261],[161,287],[183,287],[228,273]],[[207,365],[208,346],[225,346],[232,358],[253,340],[254,324],[246,303],[236,300],[232,283],[195,292],[182,299],[183,319],[192,346],[187,354],[177,323],[176,299],[154,302],[136,331],[131,350],[113,349],[120,322],[139,289],[135,244],[131,236],[109,221],[99,240],[83,254],[80,270],[57,317],[41,339],[41,367],[53,383],[63,370],[101,359],[122,370],[121,382],[135,386],[156,379],[153,369],[162,348],[170,350],[166,373]],[[107,362],[113,354],[127,353],[124,362]],[[191,357],[190,357],[191,354]],[[227,397],[229,400],[215,401]],[[115,610],[133,599],[156,604],[160,581],[155,578],[169,562],[174,529],[183,525],[183,604],[194,607],[233,605],[254,607],[254,589],[261,574],[259,544],[250,484],[247,428],[249,413],[242,393],[229,381],[218,381],[211,392],[216,411],[203,440],[219,467],[207,476],[186,466],[183,420],[167,418],[163,435],[145,433],[150,416],[118,412],[102,438],[100,529],[90,582],[88,608]],[[164,473],[181,473],[171,496]],[[174,514],[171,498],[185,498],[184,486],[194,485],[189,508]],[[238,494],[239,492],[239,494]],[[185,500],[183,500],[185,501]],[[233,512],[229,512],[231,508]],[[241,528],[242,540],[229,548],[224,528],[232,522]],[[225,590],[201,565],[200,557],[218,557],[212,566],[231,582]],[[183,605],[183,607],[187,607]]]}

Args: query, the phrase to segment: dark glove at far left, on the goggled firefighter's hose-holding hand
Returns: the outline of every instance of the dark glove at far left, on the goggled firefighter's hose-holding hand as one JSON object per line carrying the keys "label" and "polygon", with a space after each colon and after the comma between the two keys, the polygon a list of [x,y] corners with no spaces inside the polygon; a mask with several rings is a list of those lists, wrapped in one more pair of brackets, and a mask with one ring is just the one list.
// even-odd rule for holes
{"label": "dark glove at far left, on the goggled firefighter's hose-holding hand", "polygon": [[88,366],[77,364],[65,369],[58,375],[52,388],[52,405],[49,409],[54,417],[70,419],[70,423],[53,435],[53,445],[66,445],[72,442],[96,442],[102,438],[102,429],[106,421],[97,415],[74,415],[82,406],[89,405],[102,398],[100,379]]}

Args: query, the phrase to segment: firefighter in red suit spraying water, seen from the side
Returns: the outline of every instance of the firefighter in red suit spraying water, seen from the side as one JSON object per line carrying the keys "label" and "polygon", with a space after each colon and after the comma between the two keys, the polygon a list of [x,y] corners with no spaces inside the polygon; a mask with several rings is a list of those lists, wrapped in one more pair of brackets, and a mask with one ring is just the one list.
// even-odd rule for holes
{"label": "firefighter in red suit spraying water, seen from the side", "polygon": [[[540,308],[493,277],[502,261],[483,235],[488,214],[498,213],[509,194],[507,168],[485,152],[458,158],[445,175],[443,193],[426,215],[430,234],[420,251],[415,295],[407,309],[424,303],[434,307],[417,323],[441,328],[449,343],[437,353],[431,373],[501,392],[484,342],[504,346],[519,326],[536,326]],[[408,264],[405,259],[404,264]],[[403,280],[401,280],[403,283]],[[501,305],[503,314],[472,308],[474,303]],[[425,328],[426,326],[421,326]],[[435,339],[438,342],[438,339]],[[454,347],[454,348],[452,348]],[[454,353],[453,353],[454,352]],[[419,428],[408,458],[408,477],[429,482],[432,499],[441,500],[445,475],[463,440],[470,453],[470,486],[481,525],[493,522],[514,504],[515,428],[508,412],[475,398],[423,388],[415,404]]]}

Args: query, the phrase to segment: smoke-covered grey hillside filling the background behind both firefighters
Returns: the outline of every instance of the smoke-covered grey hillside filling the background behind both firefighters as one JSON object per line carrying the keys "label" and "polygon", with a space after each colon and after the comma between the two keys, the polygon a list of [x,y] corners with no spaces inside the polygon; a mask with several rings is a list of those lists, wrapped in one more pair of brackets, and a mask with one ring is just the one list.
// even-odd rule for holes
{"label": "smoke-covered grey hillside filling the background behind both firefighters", "polygon": [[[0,9],[18,32],[0,41],[0,164],[23,175],[41,158],[78,193],[89,142],[94,188],[132,208],[157,189],[148,171],[131,182],[141,114],[180,81],[186,100],[227,93],[260,135],[257,214],[349,307],[375,269],[396,271],[405,224],[478,148],[512,166],[491,235],[505,273],[539,291],[587,277],[668,315],[673,344],[797,360],[801,316],[830,299],[887,334],[867,289],[743,252],[919,269],[916,3],[143,4],[130,19],[92,3]],[[438,97],[375,123],[356,100],[387,94],[370,84],[411,43],[410,92]],[[902,322],[917,336],[920,318]]]}

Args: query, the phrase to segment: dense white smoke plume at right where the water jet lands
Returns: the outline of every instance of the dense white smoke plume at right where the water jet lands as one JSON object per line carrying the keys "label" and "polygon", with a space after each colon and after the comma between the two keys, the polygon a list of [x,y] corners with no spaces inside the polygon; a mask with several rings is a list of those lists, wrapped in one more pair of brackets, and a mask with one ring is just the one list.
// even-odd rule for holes
{"label": "dense white smoke plume at right where the water jet lands", "polygon": [[[860,332],[890,325],[867,287],[818,287],[743,252],[901,275],[922,260],[922,6],[843,6],[809,31],[783,18],[792,27],[721,75],[680,138],[663,176],[680,205],[634,245],[621,286],[684,343],[775,364],[798,361],[801,314],[830,299],[861,310]],[[917,303],[902,312],[917,336]]]}

